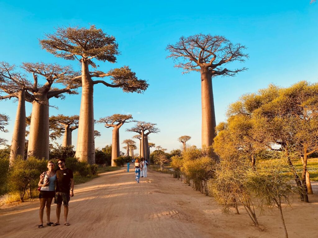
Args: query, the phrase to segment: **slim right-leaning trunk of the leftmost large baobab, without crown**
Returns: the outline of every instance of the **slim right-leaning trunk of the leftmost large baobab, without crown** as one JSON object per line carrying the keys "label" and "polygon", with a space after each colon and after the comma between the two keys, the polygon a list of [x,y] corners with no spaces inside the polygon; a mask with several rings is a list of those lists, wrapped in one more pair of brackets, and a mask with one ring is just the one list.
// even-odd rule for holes
{"label": "slim right-leaning trunk of the leftmost large baobab, without crown", "polygon": [[10,150],[10,163],[13,162],[18,155],[24,159],[25,147],[25,91],[19,92],[18,107],[16,121],[14,123],[11,150]]}

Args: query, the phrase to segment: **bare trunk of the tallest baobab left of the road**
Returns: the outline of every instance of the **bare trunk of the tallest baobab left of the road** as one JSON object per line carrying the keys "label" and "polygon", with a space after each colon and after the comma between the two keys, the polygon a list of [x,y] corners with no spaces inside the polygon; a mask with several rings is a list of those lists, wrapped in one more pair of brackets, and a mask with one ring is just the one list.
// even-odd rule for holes
{"label": "bare trunk of the tallest baobab left of the road", "polygon": [[88,62],[82,59],[82,98],[79,112],[79,129],[75,157],[89,164],[95,163],[93,82]]}

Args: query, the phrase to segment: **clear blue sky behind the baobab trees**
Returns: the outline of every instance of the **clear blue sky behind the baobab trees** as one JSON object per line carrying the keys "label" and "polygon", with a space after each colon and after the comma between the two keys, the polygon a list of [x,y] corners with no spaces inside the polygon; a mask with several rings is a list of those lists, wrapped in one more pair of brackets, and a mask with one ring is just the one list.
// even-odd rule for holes
{"label": "clear blue sky behind the baobab trees", "polygon": [[[247,71],[235,77],[215,77],[213,92],[217,123],[225,120],[227,106],[245,93],[269,83],[289,86],[300,80],[318,81],[318,3],[297,1],[1,1],[0,61],[76,62],[54,57],[41,50],[38,39],[54,27],[96,25],[116,37],[121,55],[115,64],[99,63],[100,70],[129,65],[136,75],[148,80],[144,94],[123,93],[103,85],[94,88],[95,119],[114,113],[130,113],[136,120],[157,123],[161,132],[150,141],[168,150],[177,149],[177,138],[192,136],[190,144],[201,146],[200,75],[182,75],[165,57],[168,43],[180,36],[204,33],[223,35],[233,43],[245,44],[250,58],[241,66]],[[236,66],[233,66],[236,67]],[[228,69],[231,65],[227,66]],[[52,99],[50,115],[79,114],[80,94]],[[11,141],[17,102],[0,102],[0,113],[10,116],[9,133],[0,137]],[[27,104],[27,114],[31,104]],[[131,138],[121,128],[120,140]],[[96,147],[111,143],[111,129],[96,125],[102,134]],[[73,132],[76,145],[77,131]],[[121,149],[124,151],[124,149]],[[138,153],[135,151],[135,153]]]}

